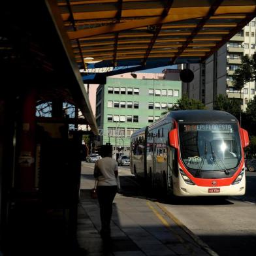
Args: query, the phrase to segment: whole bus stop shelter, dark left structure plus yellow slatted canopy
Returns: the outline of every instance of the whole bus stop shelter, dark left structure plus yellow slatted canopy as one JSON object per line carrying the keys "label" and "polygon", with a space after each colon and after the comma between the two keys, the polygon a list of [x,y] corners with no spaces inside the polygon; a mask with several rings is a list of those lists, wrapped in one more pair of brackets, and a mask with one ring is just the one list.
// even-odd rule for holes
{"label": "whole bus stop shelter, dark left structure plus yellow slatted canopy", "polygon": [[104,84],[106,76],[122,72],[200,63],[248,24],[255,8],[252,0],[4,1],[0,250],[12,223],[24,221],[16,212],[67,208],[74,227],[78,125],[98,134],[84,84]]}

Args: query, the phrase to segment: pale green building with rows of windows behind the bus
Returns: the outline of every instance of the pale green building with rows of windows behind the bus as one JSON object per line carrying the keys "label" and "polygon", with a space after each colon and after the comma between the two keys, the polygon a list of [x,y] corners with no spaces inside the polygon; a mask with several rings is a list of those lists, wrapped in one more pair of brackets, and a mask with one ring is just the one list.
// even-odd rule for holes
{"label": "pale green building with rows of windows behind the bus", "polygon": [[96,95],[101,144],[110,142],[114,157],[128,155],[131,134],[160,118],[181,98],[181,90],[181,81],[107,78]]}

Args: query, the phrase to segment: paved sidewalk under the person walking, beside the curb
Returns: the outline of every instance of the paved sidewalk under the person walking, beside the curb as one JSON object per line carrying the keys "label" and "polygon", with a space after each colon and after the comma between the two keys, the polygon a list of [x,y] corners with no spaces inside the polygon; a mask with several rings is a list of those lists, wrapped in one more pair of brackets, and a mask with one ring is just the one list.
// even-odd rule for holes
{"label": "paved sidewalk under the person walking, beside the curb", "polygon": [[114,199],[112,240],[104,244],[99,235],[99,204],[90,198],[88,189],[94,185],[92,171],[82,170],[78,210],[77,240],[86,255],[217,255],[187,234],[157,202],[121,194]]}

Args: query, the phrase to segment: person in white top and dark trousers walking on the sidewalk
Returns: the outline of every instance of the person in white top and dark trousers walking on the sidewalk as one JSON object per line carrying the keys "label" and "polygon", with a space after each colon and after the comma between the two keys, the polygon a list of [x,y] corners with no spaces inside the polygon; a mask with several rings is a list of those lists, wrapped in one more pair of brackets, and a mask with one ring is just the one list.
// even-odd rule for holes
{"label": "person in white top and dark trousers walking on the sidewalk", "polygon": [[101,157],[95,163],[94,178],[97,182],[97,196],[101,216],[101,237],[110,237],[110,220],[112,217],[112,204],[118,192],[118,163],[112,158],[112,146],[101,146]]}

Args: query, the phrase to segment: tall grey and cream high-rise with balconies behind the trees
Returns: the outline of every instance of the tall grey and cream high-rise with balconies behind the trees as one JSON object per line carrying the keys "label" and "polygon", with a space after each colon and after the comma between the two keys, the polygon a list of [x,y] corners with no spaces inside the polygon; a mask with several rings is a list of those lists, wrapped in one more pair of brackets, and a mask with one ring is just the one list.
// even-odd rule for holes
{"label": "tall grey and cream high-rise with balconies behind the trees", "polygon": [[219,94],[227,94],[229,98],[235,99],[241,97],[242,110],[246,110],[249,99],[253,99],[255,95],[255,82],[246,84],[240,95],[240,91],[232,86],[232,74],[241,65],[242,56],[254,54],[255,33],[253,19],[204,63],[189,64],[195,78],[189,84],[182,84],[182,93],[187,93],[190,98],[199,99],[209,109],[213,108],[214,99]]}

